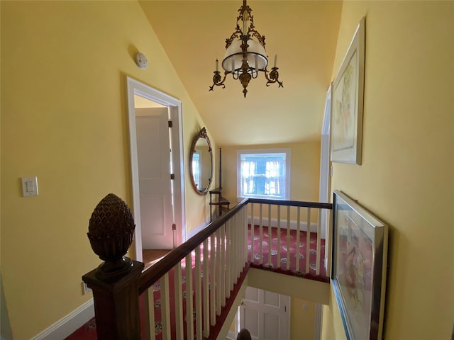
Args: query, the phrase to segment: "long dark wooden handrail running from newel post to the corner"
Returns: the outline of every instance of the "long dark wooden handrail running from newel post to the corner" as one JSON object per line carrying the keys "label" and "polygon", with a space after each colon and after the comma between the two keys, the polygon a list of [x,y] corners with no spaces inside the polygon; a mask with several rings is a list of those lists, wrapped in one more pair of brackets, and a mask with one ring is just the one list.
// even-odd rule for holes
{"label": "long dark wooden handrail running from newel post to the corner", "polygon": [[235,207],[229,210],[225,215],[221,215],[216,220],[207,225],[203,230],[195,234],[193,237],[188,239],[186,242],[170,251],[164,259],[158,261],[150,268],[143,271],[139,279],[139,294],[142,294],[148,288],[153,285],[157,280],[162,278],[165,273],[170,271],[173,267],[177,265],[182,259],[196,249],[199,244],[203,243],[205,239],[211,236],[217,229],[224,225],[228,220],[236,215],[238,211],[241,210],[245,205],[248,204],[248,198],[245,198]]}

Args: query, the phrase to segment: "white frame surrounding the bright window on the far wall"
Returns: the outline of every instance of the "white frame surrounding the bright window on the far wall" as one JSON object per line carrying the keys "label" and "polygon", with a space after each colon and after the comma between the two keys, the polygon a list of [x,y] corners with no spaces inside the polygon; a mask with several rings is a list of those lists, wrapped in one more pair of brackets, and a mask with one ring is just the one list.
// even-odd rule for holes
{"label": "white frame surrounding the bright window on the far wall", "polygon": [[[267,196],[267,195],[243,195],[241,193],[241,156],[243,154],[285,154],[285,196],[276,197],[276,196]],[[243,198],[264,198],[272,200],[289,200],[290,199],[290,160],[292,152],[289,148],[285,149],[245,149],[237,150],[236,152],[236,195],[238,200],[243,200]]]}

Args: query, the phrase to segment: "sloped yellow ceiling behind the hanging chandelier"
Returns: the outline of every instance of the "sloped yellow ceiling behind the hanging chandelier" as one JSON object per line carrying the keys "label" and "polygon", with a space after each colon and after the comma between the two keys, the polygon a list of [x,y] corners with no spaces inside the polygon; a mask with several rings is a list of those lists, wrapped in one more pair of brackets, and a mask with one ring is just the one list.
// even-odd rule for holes
{"label": "sloped yellow ceiling behind the hanging chandelier", "polygon": [[[213,84],[216,58],[236,26],[241,0],[140,1],[189,96],[218,145],[319,139],[341,20],[341,1],[248,1],[279,80],[260,74],[243,97],[240,81]],[[151,57],[149,60],[152,59]],[[270,69],[270,67],[268,67]]]}

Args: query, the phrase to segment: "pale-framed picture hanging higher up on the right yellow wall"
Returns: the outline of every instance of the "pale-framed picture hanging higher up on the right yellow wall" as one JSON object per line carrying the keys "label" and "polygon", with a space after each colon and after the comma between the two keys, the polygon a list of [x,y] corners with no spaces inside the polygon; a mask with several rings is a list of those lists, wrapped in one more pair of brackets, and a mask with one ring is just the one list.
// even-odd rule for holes
{"label": "pale-framed picture hanging higher up on the right yellow wall", "polygon": [[364,60],[365,18],[362,18],[333,81],[331,162],[361,164]]}

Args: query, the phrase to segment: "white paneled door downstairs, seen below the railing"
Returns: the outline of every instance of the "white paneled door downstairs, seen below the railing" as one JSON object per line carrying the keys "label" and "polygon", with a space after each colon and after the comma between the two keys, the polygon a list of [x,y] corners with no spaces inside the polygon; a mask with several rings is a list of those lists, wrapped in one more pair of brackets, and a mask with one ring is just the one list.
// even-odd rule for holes
{"label": "white paneled door downstairs, seen below the railing", "polygon": [[289,296],[248,287],[239,312],[253,340],[289,340]]}

